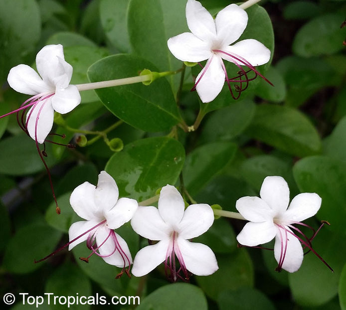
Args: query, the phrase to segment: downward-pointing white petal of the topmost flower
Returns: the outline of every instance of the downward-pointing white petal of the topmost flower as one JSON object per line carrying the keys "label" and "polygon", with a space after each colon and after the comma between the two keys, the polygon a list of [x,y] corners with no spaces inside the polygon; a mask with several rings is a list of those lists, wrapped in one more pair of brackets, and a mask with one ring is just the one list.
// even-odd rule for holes
{"label": "downward-pointing white petal of the topmost flower", "polygon": [[196,91],[202,102],[207,103],[213,101],[222,90],[225,82],[225,73],[222,69],[222,59],[218,55],[213,55],[205,65],[204,69],[199,72],[196,82],[199,80]]}

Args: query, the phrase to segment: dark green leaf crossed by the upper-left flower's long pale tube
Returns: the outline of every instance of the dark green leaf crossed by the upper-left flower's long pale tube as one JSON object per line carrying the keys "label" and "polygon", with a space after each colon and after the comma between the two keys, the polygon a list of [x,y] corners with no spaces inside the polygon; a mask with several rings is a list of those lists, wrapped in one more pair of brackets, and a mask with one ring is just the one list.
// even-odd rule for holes
{"label": "dark green leaf crossed by the upper-left flower's long pale tube", "polygon": [[[131,55],[114,55],[94,63],[88,70],[91,82],[138,76],[144,69],[157,71],[153,64]],[[166,79],[150,86],[142,83],[96,90],[103,104],[118,118],[144,131],[172,128],[179,116],[171,87]]]}

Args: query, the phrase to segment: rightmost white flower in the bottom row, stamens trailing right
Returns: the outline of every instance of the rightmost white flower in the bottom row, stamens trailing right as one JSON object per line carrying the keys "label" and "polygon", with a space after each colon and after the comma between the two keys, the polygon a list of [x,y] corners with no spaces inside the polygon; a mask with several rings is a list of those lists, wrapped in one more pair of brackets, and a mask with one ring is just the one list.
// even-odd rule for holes
{"label": "rightmost white flower in the bottom row, stamens trailing right", "polygon": [[[297,271],[303,262],[303,248],[315,253],[331,270],[332,268],[312,249],[312,238],[293,226],[300,224],[314,229],[301,221],[314,216],[321,206],[321,197],[316,193],[301,193],[295,196],[290,205],[290,191],[281,176],[267,176],[260,190],[260,197],[242,197],[236,202],[236,209],[250,222],[237,236],[241,245],[257,246],[275,237],[274,256],[277,270]],[[296,235],[292,230],[299,233]],[[314,231],[315,232],[315,231]]]}

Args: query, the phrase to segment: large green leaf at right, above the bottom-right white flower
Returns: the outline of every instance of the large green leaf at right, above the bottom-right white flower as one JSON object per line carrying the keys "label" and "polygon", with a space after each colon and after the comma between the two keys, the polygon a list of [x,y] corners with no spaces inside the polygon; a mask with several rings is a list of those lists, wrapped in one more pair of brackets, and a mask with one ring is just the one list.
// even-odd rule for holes
{"label": "large green leaf at right, above the bottom-right white flower", "polygon": [[313,155],[321,149],[320,137],[309,119],[285,106],[259,105],[247,132],[292,155]]}

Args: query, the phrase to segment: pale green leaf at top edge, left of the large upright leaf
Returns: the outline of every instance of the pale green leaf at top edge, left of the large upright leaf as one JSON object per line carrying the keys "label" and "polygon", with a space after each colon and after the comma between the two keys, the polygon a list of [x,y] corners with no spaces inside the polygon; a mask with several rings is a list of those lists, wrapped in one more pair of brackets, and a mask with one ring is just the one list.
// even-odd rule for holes
{"label": "pale green leaf at top edge, left of the large upright leaf", "polygon": [[122,53],[130,52],[127,30],[129,0],[101,0],[100,18],[108,40]]}

